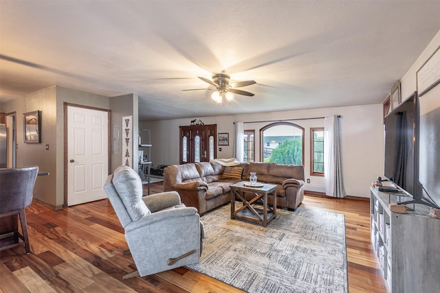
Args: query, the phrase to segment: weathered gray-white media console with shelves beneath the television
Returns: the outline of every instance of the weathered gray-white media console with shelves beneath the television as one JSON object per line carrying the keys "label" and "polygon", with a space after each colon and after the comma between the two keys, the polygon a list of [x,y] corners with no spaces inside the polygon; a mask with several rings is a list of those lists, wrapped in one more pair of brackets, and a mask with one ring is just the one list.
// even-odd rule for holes
{"label": "weathered gray-white media console with shelves beneath the television", "polygon": [[395,194],[374,187],[370,194],[371,244],[388,292],[440,292],[440,219],[422,204],[393,213]]}

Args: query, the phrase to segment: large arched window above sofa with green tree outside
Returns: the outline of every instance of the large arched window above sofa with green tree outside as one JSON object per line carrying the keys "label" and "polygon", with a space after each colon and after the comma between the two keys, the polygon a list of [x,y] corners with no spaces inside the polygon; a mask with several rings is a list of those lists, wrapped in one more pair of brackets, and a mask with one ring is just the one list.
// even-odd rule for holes
{"label": "large arched window above sofa with green tree outside", "polygon": [[304,165],[304,128],[276,122],[260,129],[260,161]]}

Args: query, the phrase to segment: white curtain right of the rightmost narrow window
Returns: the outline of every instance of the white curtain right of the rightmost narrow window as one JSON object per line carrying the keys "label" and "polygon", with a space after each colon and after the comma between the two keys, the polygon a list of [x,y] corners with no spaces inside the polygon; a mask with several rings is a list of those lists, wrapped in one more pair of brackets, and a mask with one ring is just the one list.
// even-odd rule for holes
{"label": "white curtain right of the rightmost narrow window", "polygon": [[333,198],[344,198],[344,176],[342,172],[342,150],[340,117],[324,119],[324,173],[325,194]]}

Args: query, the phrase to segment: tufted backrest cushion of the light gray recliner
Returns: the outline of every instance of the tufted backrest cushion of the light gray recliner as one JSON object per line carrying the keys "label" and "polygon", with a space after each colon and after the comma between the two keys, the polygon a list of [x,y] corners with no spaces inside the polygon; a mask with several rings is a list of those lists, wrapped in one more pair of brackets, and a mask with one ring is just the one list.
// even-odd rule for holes
{"label": "tufted backrest cushion of the light gray recliner", "polygon": [[142,200],[142,180],[131,167],[122,165],[116,168],[113,172],[112,183],[131,220],[139,220],[151,213]]}

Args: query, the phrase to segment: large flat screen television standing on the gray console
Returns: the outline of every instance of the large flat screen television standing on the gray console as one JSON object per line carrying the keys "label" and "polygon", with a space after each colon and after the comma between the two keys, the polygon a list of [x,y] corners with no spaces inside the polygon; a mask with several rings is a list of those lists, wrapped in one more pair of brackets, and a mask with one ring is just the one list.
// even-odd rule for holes
{"label": "large flat screen television standing on the gray console", "polygon": [[386,115],[384,144],[384,176],[412,200],[400,204],[426,204],[437,207],[423,194],[419,182],[419,97],[412,93]]}

